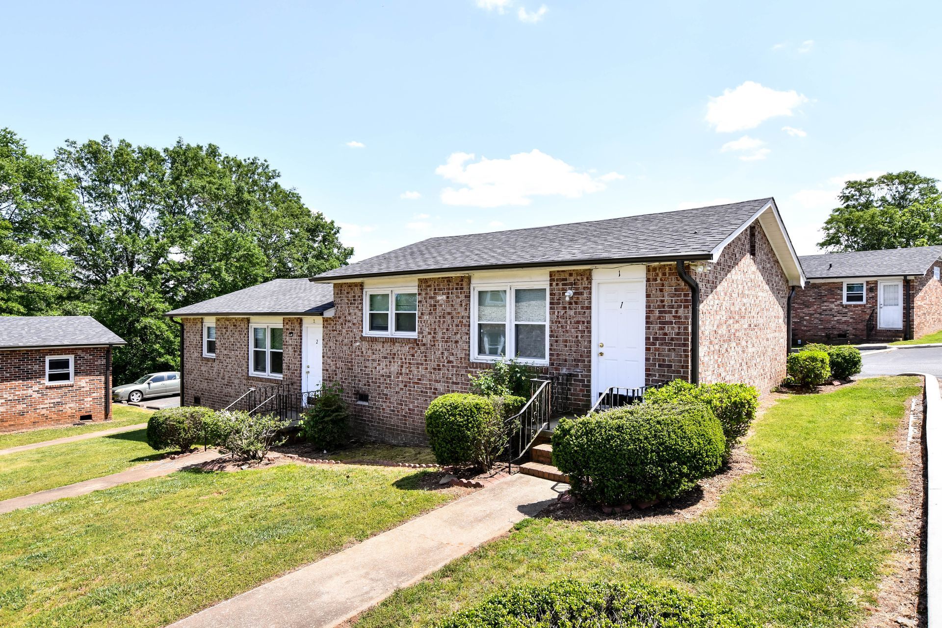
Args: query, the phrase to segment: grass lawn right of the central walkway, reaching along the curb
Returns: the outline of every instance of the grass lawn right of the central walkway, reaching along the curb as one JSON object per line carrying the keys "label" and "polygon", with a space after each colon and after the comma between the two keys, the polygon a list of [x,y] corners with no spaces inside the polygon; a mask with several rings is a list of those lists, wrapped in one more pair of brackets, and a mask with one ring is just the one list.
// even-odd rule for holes
{"label": "grass lawn right of the central walkway, reaching along the curb", "polygon": [[671,583],[773,626],[846,626],[880,576],[901,491],[894,450],[918,378],[793,395],[747,446],[757,471],[686,523],[525,520],[367,612],[357,628],[429,625],[517,583],[560,577]]}

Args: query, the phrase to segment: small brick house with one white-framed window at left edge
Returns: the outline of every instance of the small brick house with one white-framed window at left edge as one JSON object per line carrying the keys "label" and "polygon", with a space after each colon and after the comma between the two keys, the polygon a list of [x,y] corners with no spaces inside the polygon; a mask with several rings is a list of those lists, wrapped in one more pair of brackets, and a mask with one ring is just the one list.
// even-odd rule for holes
{"label": "small brick house with one white-framed window at left edge", "polygon": [[0,316],[0,432],[110,420],[123,344],[91,316]]}

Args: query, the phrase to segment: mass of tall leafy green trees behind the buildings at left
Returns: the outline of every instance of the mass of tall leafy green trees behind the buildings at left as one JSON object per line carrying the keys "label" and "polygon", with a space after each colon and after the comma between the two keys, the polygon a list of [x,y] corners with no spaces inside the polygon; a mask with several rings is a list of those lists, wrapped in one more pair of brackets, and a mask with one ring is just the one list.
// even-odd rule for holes
{"label": "mass of tall leafy green trees behind the buildings at left", "polygon": [[92,314],[122,336],[116,378],[178,367],[173,308],[345,264],[339,228],[280,173],[218,146],[65,142],[0,131],[0,314]]}

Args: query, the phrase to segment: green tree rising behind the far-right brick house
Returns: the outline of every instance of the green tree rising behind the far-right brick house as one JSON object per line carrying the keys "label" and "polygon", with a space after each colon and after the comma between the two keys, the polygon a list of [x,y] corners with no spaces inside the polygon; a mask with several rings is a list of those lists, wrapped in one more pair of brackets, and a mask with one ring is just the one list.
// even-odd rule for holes
{"label": "green tree rising behind the far-right brick house", "polygon": [[942,195],[936,184],[911,170],[848,181],[818,246],[848,251],[942,244]]}

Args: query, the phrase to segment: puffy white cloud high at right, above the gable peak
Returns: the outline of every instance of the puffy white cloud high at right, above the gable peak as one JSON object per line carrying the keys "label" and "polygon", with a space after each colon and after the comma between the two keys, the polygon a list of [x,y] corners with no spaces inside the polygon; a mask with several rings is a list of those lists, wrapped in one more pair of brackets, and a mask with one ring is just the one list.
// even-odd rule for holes
{"label": "puffy white cloud high at right, above the gable peak", "polygon": [[710,96],[707,122],[718,133],[753,129],[776,116],[792,116],[808,99],[794,89],[776,91],[754,81],[746,81],[736,89],[723,89],[722,96]]}

